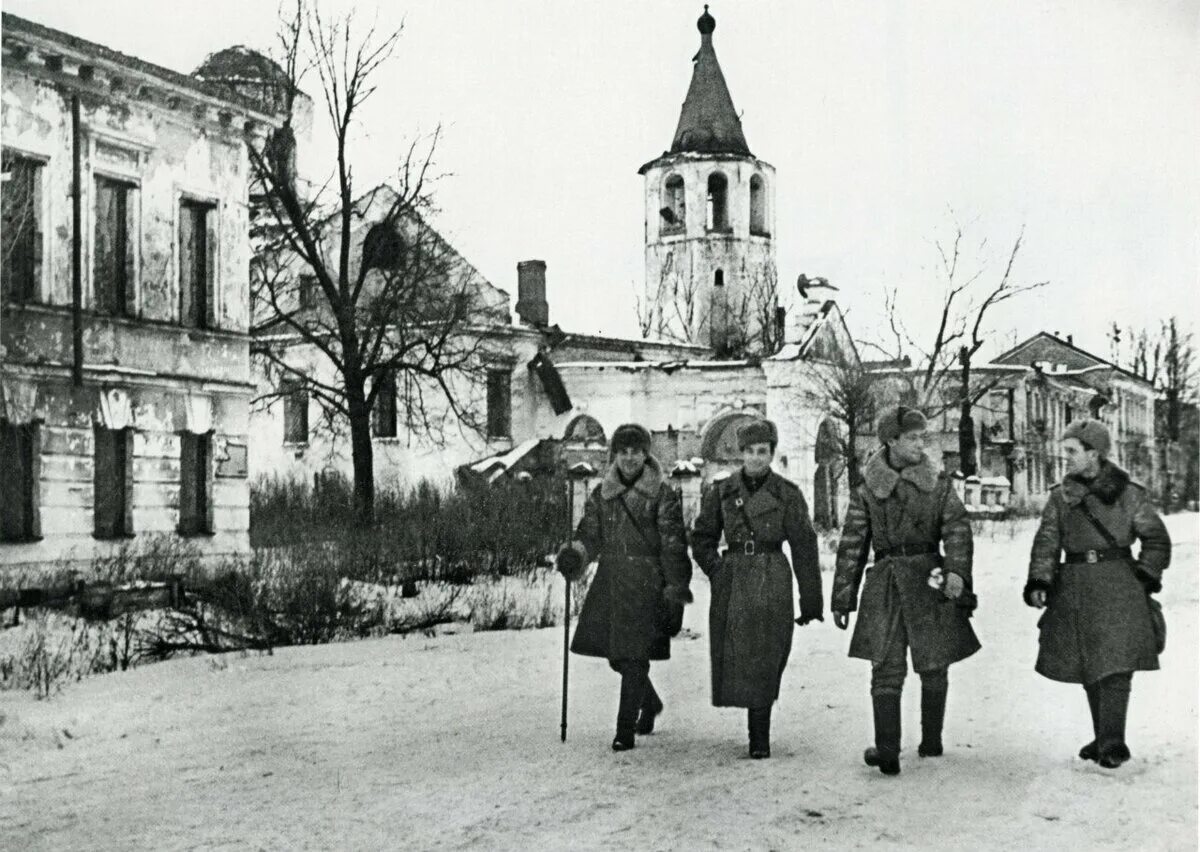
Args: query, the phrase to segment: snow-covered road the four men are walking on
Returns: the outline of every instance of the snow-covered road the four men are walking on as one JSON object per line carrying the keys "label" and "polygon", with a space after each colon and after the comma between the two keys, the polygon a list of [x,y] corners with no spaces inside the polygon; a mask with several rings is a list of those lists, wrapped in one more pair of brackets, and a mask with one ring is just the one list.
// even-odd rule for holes
{"label": "snow-covered road the four men are walking on", "polygon": [[1169,526],[1169,647],[1134,678],[1115,772],[1075,757],[1082,690],[1033,672],[1032,527],[1001,524],[978,538],[984,649],[950,671],[947,755],[916,756],[912,678],[899,778],[860,762],[869,666],[832,623],[797,630],[768,761],[710,707],[704,636],[655,664],[661,731],[619,755],[599,660],[571,659],[559,742],[560,628],[392,637],[0,694],[0,847],[1196,848],[1200,536],[1195,515]]}

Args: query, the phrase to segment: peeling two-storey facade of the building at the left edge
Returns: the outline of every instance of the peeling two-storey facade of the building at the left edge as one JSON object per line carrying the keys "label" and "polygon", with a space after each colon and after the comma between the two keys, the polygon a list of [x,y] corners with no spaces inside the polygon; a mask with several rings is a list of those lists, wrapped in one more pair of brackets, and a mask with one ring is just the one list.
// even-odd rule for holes
{"label": "peeling two-storey facade of the building at the left edge", "polygon": [[193,77],[4,16],[0,565],[248,547],[245,137]]}

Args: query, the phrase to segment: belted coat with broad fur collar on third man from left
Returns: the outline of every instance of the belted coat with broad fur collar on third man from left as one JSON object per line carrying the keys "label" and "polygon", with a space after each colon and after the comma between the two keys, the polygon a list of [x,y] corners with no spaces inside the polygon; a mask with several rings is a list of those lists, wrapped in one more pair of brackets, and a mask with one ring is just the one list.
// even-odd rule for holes
{"label": "belted coat with broad fur collar on third man from left", "polygon": [[[880,558],[901,545],[941,545],[943,553]],[[859,602],[859,582],[872,547],[875,564],[866,570]],[[871,456],[862,485],[850,496],[833,581],[833,611],[859,610],[850,655],[882,661],[901,619],[918,672],[942,668],[979,650],[970,610],[929,586],[930,571],[941,565],[947,574],[962,577],[970,592],[973,551],[966,509],[944,474],[928,458],[895,470],[886,449]]]}

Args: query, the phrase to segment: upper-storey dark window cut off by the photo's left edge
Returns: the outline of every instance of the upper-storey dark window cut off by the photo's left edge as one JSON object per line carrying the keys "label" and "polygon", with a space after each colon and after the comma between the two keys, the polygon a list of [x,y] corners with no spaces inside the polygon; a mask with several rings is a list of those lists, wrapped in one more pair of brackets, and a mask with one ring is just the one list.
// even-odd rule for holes
{"label": "upper-storey dark window cut off by the photo's left edge", "polygon": [[38,298],[42,276],[42,163],[5,152],[0,190],[0,246],[4,299],[28,302]]}

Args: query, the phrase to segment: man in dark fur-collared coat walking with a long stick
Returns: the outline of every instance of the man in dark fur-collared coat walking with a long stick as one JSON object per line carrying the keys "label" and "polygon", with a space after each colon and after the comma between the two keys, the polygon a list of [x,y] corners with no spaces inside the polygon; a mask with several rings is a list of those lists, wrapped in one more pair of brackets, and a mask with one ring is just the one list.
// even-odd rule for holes
{"label": "man in dark fur-collared coat walking with a long stick", "polygon": [[691,602],[691,560],[679,496],[650,455],[641,426],[617,427],[604,480],[588,497],[575,539],[559,551],[568,580],[599,559],[571,650],[602,656],[620,674],[614,751],[650,733],[662,701],[650,683],[650,660],[671,656],[671,636]]}

